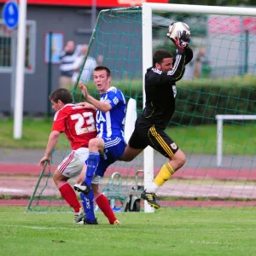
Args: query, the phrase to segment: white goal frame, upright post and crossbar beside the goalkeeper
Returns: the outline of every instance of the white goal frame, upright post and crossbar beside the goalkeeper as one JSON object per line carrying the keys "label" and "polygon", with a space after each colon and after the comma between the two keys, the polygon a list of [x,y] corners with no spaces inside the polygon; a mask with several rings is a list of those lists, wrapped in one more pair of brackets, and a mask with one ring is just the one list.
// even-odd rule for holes
{"label": "white goal frame, upright post and crossbar beside the goalkeeper", "polygon": [[[241,15],[256,16],[256,9],[240,7],[220,7],[207,5],[189,5],[172,3],[143,3],[143,84],[146,69],[152,66],[153,42],[152,42],[152,12],[169,11],[172,13],[189,13],[203,15]],[[192,35],[193,38],[193,35]],[[143,91],[143,102],[145,102],[145,92]],[[144,187],[148,188],[154,179],[154,150],[145,148],[144,150]],[[154,212],[154,209],[145,201],[145,212]]]}

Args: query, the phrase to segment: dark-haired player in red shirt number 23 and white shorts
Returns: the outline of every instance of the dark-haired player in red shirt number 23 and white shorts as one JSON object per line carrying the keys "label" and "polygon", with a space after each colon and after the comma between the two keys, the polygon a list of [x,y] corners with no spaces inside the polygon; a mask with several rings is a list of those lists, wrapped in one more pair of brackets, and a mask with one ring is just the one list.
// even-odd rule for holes
{"label": "dark-haired player in red shirt number 23 and white shorts", "polygon": [[67,89],[54,90],[50,94],[49,100],[56,113],[44,157],[40,160],[40,166],[44,168],[46,161],[50,163],[50,156],[58,143],[59,136],[61,132],[65,132],[72,152],[62,160],[54,172],[53,179],[62,197],[74,209],[74,223],[79,223],[84,218],[84,211],[67,180],[79,175],[84,161],[88,158],[88,143],[91,138],[97,135],[96,109],[92,108],[90,104],[88,104],[88,108],[72,104],[73,98]]}

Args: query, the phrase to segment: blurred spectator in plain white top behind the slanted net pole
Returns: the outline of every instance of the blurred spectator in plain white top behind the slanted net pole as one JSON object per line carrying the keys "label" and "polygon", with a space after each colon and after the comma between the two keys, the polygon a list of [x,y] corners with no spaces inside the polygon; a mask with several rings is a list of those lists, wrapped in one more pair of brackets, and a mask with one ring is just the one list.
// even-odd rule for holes
{"label": "blurred spectator in plain white top behind the slanted net pole", "polygon": [[[79,76],[79,70],[80,70],[81,65],[83,65],[84,56],[87,54],[87,52],[88,52],[88,45],[83,44],[81,46],[81,55],[79,55],[73,63],[73,70],[74,70],[73,77],[72,77],[73,83],[76,82],[76,80]],[[103,61],[102,55],[98,56],[97,61],[90,55],[87,56],[87,59],[84,63],[83,72],[81,74],[80,80],[82,80],[85,83],[90,81],[94,69],[97,66],[102,66],[102,61]]]}

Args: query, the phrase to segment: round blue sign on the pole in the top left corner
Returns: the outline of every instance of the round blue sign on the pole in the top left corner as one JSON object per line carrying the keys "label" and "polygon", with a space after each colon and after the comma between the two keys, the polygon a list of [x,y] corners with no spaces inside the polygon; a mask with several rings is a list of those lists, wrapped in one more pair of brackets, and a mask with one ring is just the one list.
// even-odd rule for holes
{"label": "round blue sign on the pole in the top left corner", "polygon": [[19,8],[15,2],[7,2],[3,5],[3,20],[5,26],[9,29],[14,29],[18,25],[19,21]]}

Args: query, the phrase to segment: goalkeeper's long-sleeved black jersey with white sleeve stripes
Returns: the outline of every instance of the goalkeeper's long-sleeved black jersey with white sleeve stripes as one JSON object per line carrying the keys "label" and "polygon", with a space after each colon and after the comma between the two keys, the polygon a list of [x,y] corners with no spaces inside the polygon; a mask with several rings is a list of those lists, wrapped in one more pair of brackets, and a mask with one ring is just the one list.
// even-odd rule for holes
{"label": "goalkeeper's long-sleeved black jersey with white sleeve stripes", "polygon": [[178,51],[173,67],[168,72],[162,72],[155,67],[149,67],[145,75],[146,107],[138,122],[149,123],[161,129],[166,126],[175,111],[177,89],[175,82],[182,79],[184,66],[193,58],[192,49]]}

